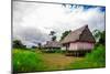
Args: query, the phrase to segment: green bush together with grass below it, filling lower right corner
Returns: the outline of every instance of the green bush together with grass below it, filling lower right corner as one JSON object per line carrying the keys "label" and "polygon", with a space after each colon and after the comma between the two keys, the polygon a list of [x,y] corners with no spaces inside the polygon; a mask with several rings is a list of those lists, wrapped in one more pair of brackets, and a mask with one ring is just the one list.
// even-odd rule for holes
{"label": "green bush together with grass below it, filling lower right corner", "polygon": [[85,60],[76,61],[70,64],[69,68],[92,68],[106,66],[106,47],[99,45],[91,53],[86,55]]}

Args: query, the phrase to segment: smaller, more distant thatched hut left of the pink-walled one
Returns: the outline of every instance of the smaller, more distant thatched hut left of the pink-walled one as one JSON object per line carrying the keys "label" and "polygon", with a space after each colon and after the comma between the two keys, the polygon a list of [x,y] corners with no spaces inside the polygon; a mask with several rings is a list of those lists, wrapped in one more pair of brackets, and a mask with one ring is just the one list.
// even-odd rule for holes
{"label": "smaller, more distant thatched hut left of the pink-walled one", "polygon": [[55,50],[61,50],[61,43],[57,41],[47,41],[46,44],[44,45],[44,49],[47,51],[55,51]]}

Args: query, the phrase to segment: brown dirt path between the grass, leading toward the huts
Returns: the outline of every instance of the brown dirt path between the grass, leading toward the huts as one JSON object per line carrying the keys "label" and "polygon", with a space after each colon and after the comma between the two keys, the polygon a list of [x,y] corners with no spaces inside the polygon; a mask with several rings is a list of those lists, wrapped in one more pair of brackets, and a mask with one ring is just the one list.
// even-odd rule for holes
{"label": "brown dirt path between the grass, leading toward the huts", "polygon": [[64,54],[59,53],[44,53],[43,60],[45,66],[47,66],[46,71],[52,71],[65,70],[70,63],[75,62],[76,60],[80,60],[80,57],[65,56]]}

